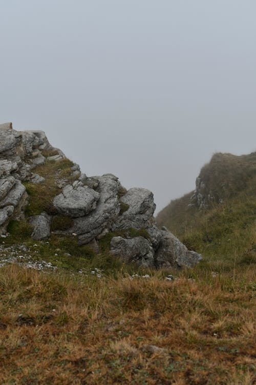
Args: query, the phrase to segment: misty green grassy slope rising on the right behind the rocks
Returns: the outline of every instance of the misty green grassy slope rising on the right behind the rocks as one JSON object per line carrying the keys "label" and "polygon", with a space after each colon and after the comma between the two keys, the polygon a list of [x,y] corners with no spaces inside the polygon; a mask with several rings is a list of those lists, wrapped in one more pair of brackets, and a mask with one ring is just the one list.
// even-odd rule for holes
{"label": "misty green grassy slope rising on the right behind the rocks", "polygon": [[[193,192],[170,202],[158,215],[190,249],[203,254],[213,268],[253,264],[256,257],[256,153],[248,156],[216,154],[199,177],[208,208],[188,206]],[[218,203],[222,200],[222,203]]]}

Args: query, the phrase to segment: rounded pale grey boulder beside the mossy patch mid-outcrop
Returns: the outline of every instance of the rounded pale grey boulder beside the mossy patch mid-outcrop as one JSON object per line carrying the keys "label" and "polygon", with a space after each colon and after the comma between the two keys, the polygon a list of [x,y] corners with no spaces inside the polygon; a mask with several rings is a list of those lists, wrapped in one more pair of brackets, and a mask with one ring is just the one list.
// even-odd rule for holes
{"label": "rounded pale grey boulder beside the mossy patch mid-outcrop", "polygon": [[99,193],[88,186],[68,185],[54,198],[53,205],[59,213],[77,218],[95,209],[98,199]]}

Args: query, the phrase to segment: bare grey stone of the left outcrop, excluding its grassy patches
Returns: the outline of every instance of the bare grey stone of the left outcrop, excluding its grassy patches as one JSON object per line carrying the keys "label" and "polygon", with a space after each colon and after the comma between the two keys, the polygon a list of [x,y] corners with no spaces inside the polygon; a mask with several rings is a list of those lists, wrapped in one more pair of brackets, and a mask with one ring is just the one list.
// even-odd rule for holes
{"label": "bare grey stone of the left outcrop, excluding its grassy patches", "polygon": [[[50,145],[43,131],[16,131],[11,123],[0,125],[0,235],[6,232],[11,220],[25,218],[29,197],[22,182],[46,183],[47,176],[43,178],[33,172],[35,167],[63,159],[63,152]],[[72,181],[59,180],[56,175],[53,183],[60,192],[49,202],[52,212],[26,218],[33,227],[34,239],[49,238],[51,221],[66,217],[68,227],[59,232],[76,235],[79,245],[97,245],[110,233],[110,254],[126,263],[193,267],[202,259],[172,234],[159,230],[153,216],[156,205],[151,191],[126,191],[112,174],[87,177],[76,164],[70,171]]]}

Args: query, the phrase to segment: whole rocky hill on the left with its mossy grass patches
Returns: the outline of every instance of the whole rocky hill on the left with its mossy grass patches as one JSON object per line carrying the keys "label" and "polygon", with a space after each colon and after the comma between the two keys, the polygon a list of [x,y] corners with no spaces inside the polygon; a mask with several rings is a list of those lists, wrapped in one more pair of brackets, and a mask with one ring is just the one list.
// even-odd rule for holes
{"label": "whole rocky hill on the left with its mossy grass patches", "polygon": [[111,263],[195,266],[202,256],[156,226],[155,208],[145,188],[126,190],[113,174],[82,173],[45,132],[0,125],[0,235],[8,236],[6,244],[22,241],[33,249],[40,241],[44,258],[55,247],[62,260],[78,254],[84,263],[105,253]]}

